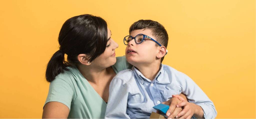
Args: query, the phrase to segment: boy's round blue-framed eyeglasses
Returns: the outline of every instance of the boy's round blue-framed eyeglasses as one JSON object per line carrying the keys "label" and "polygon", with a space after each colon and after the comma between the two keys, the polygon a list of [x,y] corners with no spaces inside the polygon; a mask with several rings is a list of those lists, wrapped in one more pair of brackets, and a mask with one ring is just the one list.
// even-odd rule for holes
{"label": "boy's round blue-framed eyeglasses", "polygon": [[125,37],[124,37],[124,45],[128,45],[128,43],[129,43],[130,41],[132,41],[132,39],[135,40],[135,43],[136,43],[136,44],[141,44],[141,43],[145,40],[145,38],[151,39],[152,41],[154,41],[154,42],[155,42],[156,44],[158,44],[159,46],[162,46],[160,43],[158,43],[157,41],[155,41],[153,38],[151,38],[151,37],[149,37],[149,36],[147,36],[147,35],[144,35],[144,34],[138,34],[138,35],[136,35],[135,37],[132,37],[132,36],[130,36],[130,35],[125,36]]}

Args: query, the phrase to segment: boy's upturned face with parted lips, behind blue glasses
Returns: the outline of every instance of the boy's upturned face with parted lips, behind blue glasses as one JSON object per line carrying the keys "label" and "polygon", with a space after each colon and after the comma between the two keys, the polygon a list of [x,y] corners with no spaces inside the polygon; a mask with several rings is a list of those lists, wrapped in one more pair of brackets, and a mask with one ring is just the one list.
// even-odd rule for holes
{"label": "boy's upturned face with parted lips, behind blue glasses", "polygon": [[[147,35],[153,39],[156,39],[152,35],[150,29],[139,29],[134,30],[130,33],[132,37],[135,37],[138,34]],[[133,51],[133,52],[128,52]],[[156,55],[158,53],[158,48],[156,43],[148,38],[145,38],[141,44],[136,44],[134,39],[128,43],[125,49],[125,56],[127,61],[136,66],[145,65],[149,63],[153,63],[156,60]]]}

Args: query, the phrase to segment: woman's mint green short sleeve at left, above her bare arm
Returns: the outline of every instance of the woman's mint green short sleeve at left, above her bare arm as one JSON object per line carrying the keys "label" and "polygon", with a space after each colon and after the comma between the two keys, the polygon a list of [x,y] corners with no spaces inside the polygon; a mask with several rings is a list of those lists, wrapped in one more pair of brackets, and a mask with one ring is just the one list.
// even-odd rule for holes
{"label": "woman's mint green short sleeve at left, above her bare arm", "polygon": [[73,90],[69,83],[61,78],[55,78],[55,80],[50,83],[45,104],[56,101],[65,104],[70,110],[72,98]]}

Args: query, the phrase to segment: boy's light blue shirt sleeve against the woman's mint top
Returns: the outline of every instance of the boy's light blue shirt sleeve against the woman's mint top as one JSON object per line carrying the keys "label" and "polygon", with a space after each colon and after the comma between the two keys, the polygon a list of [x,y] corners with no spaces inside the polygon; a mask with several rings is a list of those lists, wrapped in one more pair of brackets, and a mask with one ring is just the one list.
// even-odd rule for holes
{"label": "boy's light blue shirt sleeve against the woman's mint top", "polygon": [[130,118],[126,113],[130,89],[131,85],[120,78],[111,81],[105,118]]}

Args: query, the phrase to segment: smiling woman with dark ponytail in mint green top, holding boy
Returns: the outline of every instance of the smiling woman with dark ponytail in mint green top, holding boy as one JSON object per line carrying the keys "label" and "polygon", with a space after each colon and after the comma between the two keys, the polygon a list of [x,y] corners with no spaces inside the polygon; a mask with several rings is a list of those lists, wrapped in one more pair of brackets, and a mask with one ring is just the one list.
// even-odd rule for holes
{"label": "smiling woman with dark ponytail in mint green top, holding boy", "polygon": [[[107,23],[92,15],[72,17],[63,24],[58,41],[60,49],[46,69],[50,87],[42,118],[104,118],[112,78],[131,68],[125,57],[115,57],[118,44]],[[177,104],[177,98],[172,100],[169,103]]]}

